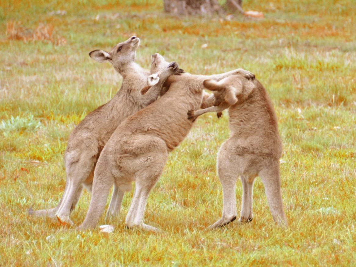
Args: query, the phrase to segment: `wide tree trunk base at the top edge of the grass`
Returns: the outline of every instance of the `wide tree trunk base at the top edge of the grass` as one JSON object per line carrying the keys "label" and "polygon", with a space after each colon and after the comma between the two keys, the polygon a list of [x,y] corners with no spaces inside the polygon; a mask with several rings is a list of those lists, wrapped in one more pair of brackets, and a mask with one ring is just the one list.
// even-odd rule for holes
{"label": "wide tree trunk base at the top edge of the grass", "polygon": [[210,15],[223,13],[218,0],[163,0],[164,11],[174,15]]}

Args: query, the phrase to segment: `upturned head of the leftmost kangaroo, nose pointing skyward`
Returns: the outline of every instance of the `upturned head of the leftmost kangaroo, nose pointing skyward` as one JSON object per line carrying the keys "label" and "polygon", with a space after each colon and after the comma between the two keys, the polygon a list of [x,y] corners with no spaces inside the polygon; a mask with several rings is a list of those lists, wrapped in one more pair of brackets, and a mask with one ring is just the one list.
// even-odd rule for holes
{"label": "upturned head of the leftmost kangaroo, nose pointing skyward", "polygon": [[132,36],[125,42],[118,43],[110,52],[94,50],[89,53],[89,56],[100,63],[110,62],[120,72],[125,64],[135,61],[136,50],[139,44],[140,39]]}

